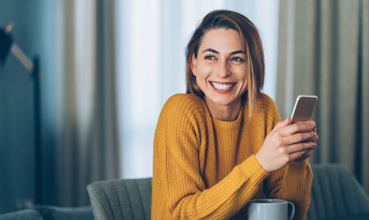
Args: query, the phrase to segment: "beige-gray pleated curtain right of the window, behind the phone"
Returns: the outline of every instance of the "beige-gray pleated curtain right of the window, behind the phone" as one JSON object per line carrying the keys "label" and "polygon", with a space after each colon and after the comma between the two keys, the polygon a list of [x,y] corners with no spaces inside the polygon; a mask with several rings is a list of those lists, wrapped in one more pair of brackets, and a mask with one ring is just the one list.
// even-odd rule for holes
{"label": "beige-gray pleated curtain right of the window, behind the phone", "polygon": [[369,1],[280,1],[276,103],[318,96],[310,163],[343,163],[369,192]]}

